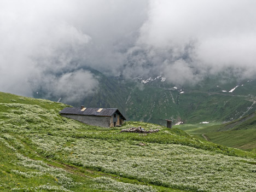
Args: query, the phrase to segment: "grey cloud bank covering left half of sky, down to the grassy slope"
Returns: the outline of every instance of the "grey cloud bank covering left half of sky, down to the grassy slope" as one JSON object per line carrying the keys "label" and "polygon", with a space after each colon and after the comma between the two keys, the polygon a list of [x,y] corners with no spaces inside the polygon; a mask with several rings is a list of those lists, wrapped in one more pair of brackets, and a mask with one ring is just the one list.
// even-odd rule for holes
{"label": "grey cloud bank covering left half of sky, down to the grassy slope", "polygon": [[82,101],[98,85],[89,68],[120,75],[128,44],[146,17],[144,5],[146,1],[1,1],[0,90]]}

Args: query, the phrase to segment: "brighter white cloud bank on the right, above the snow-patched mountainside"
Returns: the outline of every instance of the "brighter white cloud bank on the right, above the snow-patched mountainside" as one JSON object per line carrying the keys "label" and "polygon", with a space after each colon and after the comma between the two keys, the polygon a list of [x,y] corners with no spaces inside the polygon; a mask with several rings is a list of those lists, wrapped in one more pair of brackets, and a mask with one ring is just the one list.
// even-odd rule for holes
{"label": "brighter white cloud bank on the right, above the snow-patched mountainside", "polygon": [[236,71],[240,79],[254,78],[255,5],[254,1],[150,1],[148,20],[136,42],[136,49],[143,50],[136,55],[142,65],[136,67],[141,72],[150,67],[174,84],[195,84],[224,71]]}

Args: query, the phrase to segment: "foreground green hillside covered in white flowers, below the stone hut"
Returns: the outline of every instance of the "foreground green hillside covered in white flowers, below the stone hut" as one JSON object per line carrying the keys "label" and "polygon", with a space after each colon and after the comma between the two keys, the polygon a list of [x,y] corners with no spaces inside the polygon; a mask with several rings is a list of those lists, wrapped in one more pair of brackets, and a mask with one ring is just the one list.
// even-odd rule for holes
{"label": "foreground green hillside covered in white flowers, below the stone hut", "polygon": [[124,126],[153,134],[89,126],[61,117],[64,107],[0,92],[1,191],[256,190],[252,153],[155,124]]}

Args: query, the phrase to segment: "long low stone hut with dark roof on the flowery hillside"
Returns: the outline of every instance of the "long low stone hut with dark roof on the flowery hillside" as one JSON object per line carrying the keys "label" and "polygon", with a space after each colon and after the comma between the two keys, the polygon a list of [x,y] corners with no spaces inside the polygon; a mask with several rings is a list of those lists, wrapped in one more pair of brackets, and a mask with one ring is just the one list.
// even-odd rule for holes
{"label": "long low stone hut with dark roof on the flowery hillside", "polygon": [[63,117],[100,127],[121,126],[126,120],[117,108],[66,107],[59,113]]}

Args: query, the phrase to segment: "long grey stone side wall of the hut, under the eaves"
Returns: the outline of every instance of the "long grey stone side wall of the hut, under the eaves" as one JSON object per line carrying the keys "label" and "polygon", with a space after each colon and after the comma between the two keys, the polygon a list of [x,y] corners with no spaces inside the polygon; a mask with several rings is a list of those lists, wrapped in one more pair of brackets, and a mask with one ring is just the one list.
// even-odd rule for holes
{"label": "long grey stone side wall of the hut, under the eaves", "polygon": [[69,115],[61,114],[63,117],[74,119],[86,123],[88,125],[95,125],[100,127],[109,127],[110,117],[89,116],[89,115]]}

